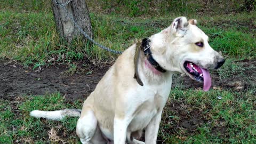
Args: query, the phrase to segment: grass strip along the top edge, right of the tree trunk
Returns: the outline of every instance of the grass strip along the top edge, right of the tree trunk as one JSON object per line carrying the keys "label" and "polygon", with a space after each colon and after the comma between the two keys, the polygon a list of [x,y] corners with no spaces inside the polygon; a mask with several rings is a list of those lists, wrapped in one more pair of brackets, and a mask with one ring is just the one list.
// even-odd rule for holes
{"label": "grass strip along the top edge, right of the tree trunk", "polygon": [[[207,3],[207,5],[206,5]],[[246,11],[244,1],[137,1],[137,0],[95,0],[87,2],[93,5],[98,13],[128,15],[129,17],[159,17],[160,15],[229,14]]]}

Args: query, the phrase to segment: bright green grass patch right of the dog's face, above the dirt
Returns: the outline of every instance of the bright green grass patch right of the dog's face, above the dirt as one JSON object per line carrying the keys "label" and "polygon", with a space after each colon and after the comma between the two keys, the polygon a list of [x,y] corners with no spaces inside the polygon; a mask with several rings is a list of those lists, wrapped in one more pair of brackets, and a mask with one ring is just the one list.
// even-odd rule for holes
{"label": "bright green grass patch right of the dog's face, above the dirt", "polygon": [[222,30],[219,28],[204,28],[204,32],[210,37],[210,45],[215,50],[233,58],[255,58],[256,38],[253,33],[247,34],[236,29]]}

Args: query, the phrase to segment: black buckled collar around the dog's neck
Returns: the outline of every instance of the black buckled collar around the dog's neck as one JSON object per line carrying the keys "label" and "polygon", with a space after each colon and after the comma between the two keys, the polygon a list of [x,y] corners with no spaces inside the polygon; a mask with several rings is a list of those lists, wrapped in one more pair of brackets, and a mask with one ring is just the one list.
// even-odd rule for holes
{"label": "black buckled collar around the dog's neck", "polygon": [[152,56],[152,52],[150,51],[150,40],[148,38],[142,39],[141,49],[144,52],[145,56],[147,57],[149,63],[158,71],[165,73],[166,70],[163,69],[159,63],[156,62],[156,60]]}

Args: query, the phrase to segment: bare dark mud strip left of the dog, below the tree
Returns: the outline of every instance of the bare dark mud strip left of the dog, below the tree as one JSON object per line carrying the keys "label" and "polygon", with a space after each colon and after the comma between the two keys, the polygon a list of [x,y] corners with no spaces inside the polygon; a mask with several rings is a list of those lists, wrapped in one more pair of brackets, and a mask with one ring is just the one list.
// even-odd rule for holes
{"label": "bare dark mud strip left of the dog, below the tree", "polygon": [[0,98],[12,100],[20,95],[43,95],[60,92],[68,100],[86,98],[108,69],[84,67],[78,64],[76,73],[70,75],[65,66],[24,68],[15,63],[0,63]]}

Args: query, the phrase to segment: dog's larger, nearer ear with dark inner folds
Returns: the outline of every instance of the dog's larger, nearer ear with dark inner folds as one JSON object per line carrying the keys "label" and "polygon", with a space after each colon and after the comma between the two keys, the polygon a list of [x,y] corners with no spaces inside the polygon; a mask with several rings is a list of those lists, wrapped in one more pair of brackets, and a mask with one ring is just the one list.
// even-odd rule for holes
{"label": "dog's larger, nearer ear with dark inner folds", "polygon": [[176,36],[183,36],[186,33],[188,20],[185,17],[179,17],[172,22],[172,33]]}

